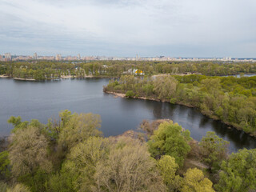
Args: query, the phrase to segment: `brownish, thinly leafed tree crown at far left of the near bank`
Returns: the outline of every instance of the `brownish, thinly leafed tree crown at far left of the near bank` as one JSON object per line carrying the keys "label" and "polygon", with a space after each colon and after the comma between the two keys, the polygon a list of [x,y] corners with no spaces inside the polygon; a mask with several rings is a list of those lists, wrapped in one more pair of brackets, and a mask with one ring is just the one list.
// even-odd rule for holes
{"label": "brownish, thinly leafed tree crown at far left of the near bank", "polygon": [[17,130],[11,137],[9,154],[13,174],[34,174],[39,167],[51,170],[51,163],[46,158],[47,147],[48,142],[38,128]]}

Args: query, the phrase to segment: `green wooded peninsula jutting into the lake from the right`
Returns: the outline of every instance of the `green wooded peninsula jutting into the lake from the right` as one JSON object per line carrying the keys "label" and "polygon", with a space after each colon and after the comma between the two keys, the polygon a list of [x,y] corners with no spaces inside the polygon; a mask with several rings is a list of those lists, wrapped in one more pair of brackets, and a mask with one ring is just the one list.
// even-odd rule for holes
{"label": "green wooded peninsula jutting into the lake from the right", "polygon": [[256,135],[255,76],[235,78],[193,74],[136,78],[124,75],[118,81],[111,80],[104,90],[131,98],[154,98],[197,107],[210,118]]}

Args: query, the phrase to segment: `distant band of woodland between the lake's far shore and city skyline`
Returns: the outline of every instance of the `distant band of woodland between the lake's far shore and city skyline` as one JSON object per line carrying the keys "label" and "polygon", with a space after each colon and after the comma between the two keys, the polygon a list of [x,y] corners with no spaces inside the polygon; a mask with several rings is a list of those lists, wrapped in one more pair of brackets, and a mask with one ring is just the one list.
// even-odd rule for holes
{"label": "distant band of woodland between the lake's far shore and city skyline", "polygon": [[38,81],[58,79],[62,75],[76,78],[120,77],[130,69],[142,70],[146,75],[201,73],[210,76],[256,73],[255,62],[0,62],[0,74],[12,78],[32,78]]}

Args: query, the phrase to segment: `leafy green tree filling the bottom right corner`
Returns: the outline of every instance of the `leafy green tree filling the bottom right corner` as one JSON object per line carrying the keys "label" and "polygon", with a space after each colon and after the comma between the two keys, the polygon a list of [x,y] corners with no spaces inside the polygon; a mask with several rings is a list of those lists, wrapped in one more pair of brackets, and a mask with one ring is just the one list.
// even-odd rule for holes
{"label": "leafy green tree filling the bottom right corner", "polygon": [[239,150],[222,162],[218,191],[254,191],[256,190],[256,149]]}

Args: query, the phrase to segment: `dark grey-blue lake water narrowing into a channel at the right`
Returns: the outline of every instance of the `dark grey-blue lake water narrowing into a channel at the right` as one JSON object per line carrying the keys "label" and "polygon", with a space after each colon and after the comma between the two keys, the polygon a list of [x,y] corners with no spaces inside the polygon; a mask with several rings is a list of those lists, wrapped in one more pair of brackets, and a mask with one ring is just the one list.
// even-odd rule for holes
{"label": "dark grey-blue lake water narrowing into a channel at the right", "polygon": [[198,110],[166,102],[114,98],[104,94],[102,86],[108,79],[66,79],[55,82],[21,82],[0,78],[0,134],[8,135],[12,126],[7,124],[11,115],[32,118],[46,123],[58,118],[60,110],[100,114],[105,136],[135,130],[143,119],[170,118],[185,129],[191,137],[200,140],[207,131],[215,131],[230,142],[230,151],[256,148],[256,139],[242,131],[228,129],[221,122],[203,116]]}

